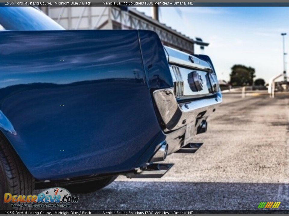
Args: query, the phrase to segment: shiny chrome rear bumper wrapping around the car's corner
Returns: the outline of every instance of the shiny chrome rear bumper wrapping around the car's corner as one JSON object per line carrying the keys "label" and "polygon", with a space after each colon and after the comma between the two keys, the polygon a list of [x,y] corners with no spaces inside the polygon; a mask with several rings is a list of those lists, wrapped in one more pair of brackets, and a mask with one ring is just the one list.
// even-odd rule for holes
{"label": "shiny chrome rear bumper wrapping around the car's corner", "polygon": [[213,112],[221,102],[220,92],[214,98],[203,98],[178,104],[170,88],[156,90],[153,93],[155,103],[164,123],[164,132],[177,130],[196,120],[200,112]]}

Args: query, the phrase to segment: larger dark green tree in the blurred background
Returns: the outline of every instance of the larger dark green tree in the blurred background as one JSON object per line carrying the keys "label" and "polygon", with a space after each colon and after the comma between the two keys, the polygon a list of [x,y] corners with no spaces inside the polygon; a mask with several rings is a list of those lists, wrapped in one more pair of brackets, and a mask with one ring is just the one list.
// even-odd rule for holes
{"label": "larger dark green tree in the blurred background", "polygon": [[255,69],[241,64],[235,64],[231,68],[230,83],[233,86],[253,85]]}

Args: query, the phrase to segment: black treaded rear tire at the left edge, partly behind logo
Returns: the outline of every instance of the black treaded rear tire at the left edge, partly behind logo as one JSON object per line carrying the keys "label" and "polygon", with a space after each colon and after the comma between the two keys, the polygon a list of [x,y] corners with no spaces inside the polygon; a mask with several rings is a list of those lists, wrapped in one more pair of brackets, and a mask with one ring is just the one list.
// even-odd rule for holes
{"label": "black treaded rear tire at the left edge, partly behind logo", "polygon": [[11,202],[8,204],[4,202],[4,194],[32,195],[34,187],[33,176],[26,169],[6,137],[0,132],[0,209],[30,209],[12,208]]}

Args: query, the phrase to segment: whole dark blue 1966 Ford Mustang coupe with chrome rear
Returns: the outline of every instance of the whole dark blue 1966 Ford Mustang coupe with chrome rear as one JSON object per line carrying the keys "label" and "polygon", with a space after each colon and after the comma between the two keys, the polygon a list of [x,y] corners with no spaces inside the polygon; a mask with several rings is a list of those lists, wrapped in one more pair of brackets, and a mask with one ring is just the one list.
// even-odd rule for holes
{"label": "whole dark blue 1966 Ford Mustang coupe with chrome rear", "polygon": [[155,32],[66,31],[33,7],[0,7],[0,25],[0,199],[161,177],[222,102],[210,58]]}

